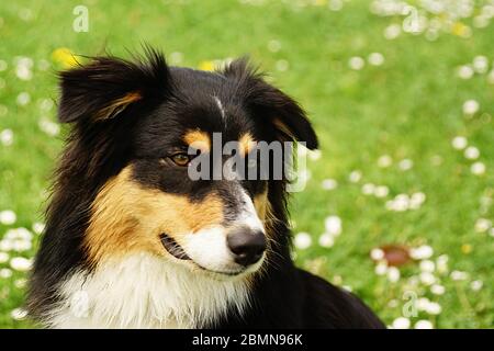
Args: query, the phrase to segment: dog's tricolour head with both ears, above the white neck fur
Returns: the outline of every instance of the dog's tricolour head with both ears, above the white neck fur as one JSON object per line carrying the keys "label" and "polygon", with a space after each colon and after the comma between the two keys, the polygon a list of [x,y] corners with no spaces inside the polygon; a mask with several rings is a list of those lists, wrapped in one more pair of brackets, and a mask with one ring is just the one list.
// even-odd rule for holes
{"label": "dog's tricolour head with both ears, above the white neck fur", "polygon": [[[223,278],[262,265],[276,245],[277,219],[274,180],[269,170],[259,177],[256,145],[317,146],[293,100],[243,60],[202,72],[169,68],[156,53],[138,63],[98,58],[66,71],[61,93],[60,121],[74,123],[74,138],[93,154],[88,173],[103,178],[83,237],[90,262],[146,252]],[[228,166],[227,144],[240,167]],[[192,168],[207,168],[205,177],[191,177]],[[251,168],[258,177],[245,177]]]}

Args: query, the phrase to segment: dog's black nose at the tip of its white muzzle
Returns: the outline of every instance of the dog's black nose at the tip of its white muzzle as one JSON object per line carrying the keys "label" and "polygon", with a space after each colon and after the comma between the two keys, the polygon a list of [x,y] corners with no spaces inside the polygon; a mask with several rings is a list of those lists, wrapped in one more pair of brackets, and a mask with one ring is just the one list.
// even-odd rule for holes
{"label": "dog's black nose at the tip of its white muzzle", "polygon": [[229,250],[238,264],[254,264],[262,257],[266,250],[266,236],[261,230],[240,227],[226,236]]}

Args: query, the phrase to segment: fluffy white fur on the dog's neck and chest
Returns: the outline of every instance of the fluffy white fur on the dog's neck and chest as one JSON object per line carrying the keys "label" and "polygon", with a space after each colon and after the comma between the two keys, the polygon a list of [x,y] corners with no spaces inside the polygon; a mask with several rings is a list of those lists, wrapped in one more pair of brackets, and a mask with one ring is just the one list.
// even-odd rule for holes
{"label": "fluffy white fur on the dog's neck and chest", "polygon": [[77,271],[46,322],[55,328],[198,328],[248,304],[246,280],[215,280],[151,254]]}

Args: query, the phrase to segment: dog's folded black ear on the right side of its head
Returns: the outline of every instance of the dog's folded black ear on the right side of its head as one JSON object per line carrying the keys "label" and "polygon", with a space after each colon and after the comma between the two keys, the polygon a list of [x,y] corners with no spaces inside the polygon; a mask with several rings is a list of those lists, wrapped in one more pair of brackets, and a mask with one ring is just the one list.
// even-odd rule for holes
{"label": "dog's folded black ear on the right side of its head", "polygon": [[303,109],[284,92],[269,84],[246,58],[234,60],[222,73],[238,82],[237,93],[244,95],[256,114],[267,116],[285,138],[304,141],[308,149],[317,148],[317,136]]}

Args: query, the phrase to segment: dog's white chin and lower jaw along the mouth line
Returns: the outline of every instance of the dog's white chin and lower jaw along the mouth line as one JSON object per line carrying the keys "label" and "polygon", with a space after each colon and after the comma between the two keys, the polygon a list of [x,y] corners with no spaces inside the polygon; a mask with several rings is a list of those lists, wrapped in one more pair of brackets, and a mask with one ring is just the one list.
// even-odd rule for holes
{"label": "dog's white chin and lower jaw along the mouth line", "polygon": [[194,261],[190,254],[171,237],[166,234],[160,235],[161,244],[165,250],[171,256],[171,260],[178,264],[186,265],[191,269],[194,273],[202,273],[215,280],[238,280],[244,279],[257,272],[265,260],[265,256],[255,264],[249,267],[243,267],[236,263],[232,263],[232,267],[225,268],[209,268],[205,264],[200,264]]}

